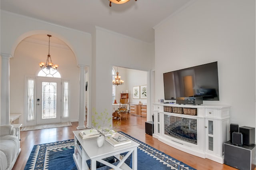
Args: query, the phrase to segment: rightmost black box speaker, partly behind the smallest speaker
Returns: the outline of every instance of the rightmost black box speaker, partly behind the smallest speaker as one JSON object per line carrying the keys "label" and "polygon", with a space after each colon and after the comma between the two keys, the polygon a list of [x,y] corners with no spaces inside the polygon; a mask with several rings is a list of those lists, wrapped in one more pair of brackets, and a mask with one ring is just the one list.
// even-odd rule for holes
{"label": "rightmost black box speaker, partly behind the smallest speaker", "polygon": [[243,134],[243,144],[250,146],[255,143],[255,128],[254,127],[240,127],[239,132]]}

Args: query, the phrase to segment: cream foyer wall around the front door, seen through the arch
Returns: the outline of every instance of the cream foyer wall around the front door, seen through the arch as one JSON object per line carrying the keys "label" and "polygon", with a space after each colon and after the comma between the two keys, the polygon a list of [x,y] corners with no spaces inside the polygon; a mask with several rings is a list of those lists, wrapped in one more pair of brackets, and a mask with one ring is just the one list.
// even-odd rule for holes
{"label": "cream foyer wall around the front door, seen through the arch", "polygon": [[[45,62],[47,55],[48,45],[26,42],[25,39],[19,43],[14,57],[10,59],[10,113],[22,113],[20,121],[23,124],[26,123],[25,77],[36,77],[40,70],[38,63]],[[70,49],[53,47],[50,44],[50,55],[52,62],[59,65],[58,71],[62,79],[70,83],[70,119],[78,120],[79,68],[74,53]]]}

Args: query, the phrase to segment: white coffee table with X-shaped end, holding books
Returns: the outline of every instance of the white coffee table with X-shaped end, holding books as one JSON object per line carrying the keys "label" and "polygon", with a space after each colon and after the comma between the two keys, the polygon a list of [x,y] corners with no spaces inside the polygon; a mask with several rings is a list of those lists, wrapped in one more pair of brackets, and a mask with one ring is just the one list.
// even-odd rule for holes
{"label": "white coffee table with X-shaped end, holding books", "polygon": [[[137,170],[137,148],[139,144],[137,142],[132,142],[130,144],[125,144],[122,146],[114,147],[110,145],[108,142],[104,142],[102,147],[98,147],[97,145],[97,137],[84,139],[80,138],[79,132],[80,130],[73,131],[74,139],[75,139],[75,149],[73,158],[76,163],[76,167],[78,170],[96,170],[96,161],[101,162],[107,166],[110,166],[114,169],[131,169],[128,165],[124,163],[124,161],[128,158],[130,154],[132,154],[132,169]],[[77,141],[80,142],[81,148],[78,146]],[[120,160],[120,154],[128,152],[122,160]],[[118,165],[110,164],[102,159],[115,156],[120,160]],[[86,160],[91,160],[91,167],[87,166]]]}

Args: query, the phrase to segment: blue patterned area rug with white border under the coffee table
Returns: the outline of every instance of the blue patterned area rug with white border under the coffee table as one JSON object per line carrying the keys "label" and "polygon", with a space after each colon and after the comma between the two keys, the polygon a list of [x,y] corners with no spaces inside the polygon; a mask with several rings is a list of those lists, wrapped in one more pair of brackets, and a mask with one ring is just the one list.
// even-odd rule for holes
{"label": "blue patterned area rug with white border under the coffee table", "polygon": [[[124,132],[119,133],[140,144],[137,152],[138,170],[195,170]],[[24,170],[77,170],[73,153],[74,140],[34,145]],[[121,154],[121,157],[125,154]],[[132,167],[131,156],[125,162]]]}

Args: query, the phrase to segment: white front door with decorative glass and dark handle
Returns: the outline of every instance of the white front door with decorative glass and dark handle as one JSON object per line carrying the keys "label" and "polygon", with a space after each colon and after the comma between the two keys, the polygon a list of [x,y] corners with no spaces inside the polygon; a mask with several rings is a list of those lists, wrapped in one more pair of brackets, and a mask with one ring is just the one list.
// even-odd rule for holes
{"label": "white front door with decorative glass and dark handle", "polygon": [[61,122],[61,79],[37,77],[37,125]]}

